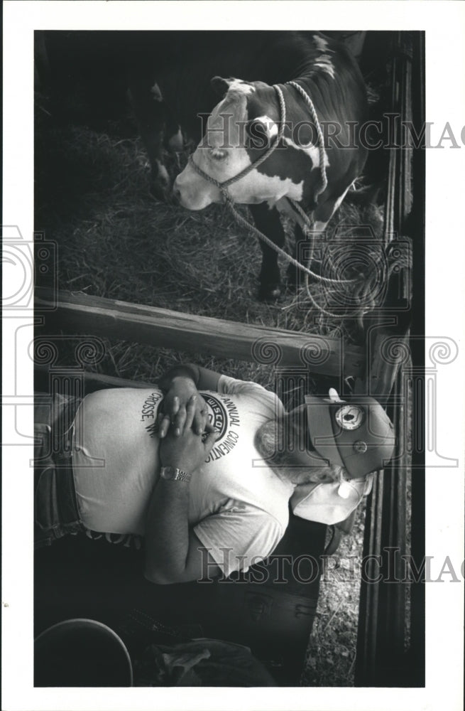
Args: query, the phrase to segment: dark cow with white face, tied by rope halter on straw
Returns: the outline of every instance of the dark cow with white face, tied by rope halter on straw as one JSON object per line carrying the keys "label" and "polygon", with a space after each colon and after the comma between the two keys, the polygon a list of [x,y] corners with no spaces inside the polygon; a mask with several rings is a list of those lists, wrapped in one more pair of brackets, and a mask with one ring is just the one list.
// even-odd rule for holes
{"label": "dark cow with white face, tied by rope halter on straw", "polygon": [[[324,231],[366,161],[359,140],[368,114],[366,88],[348,50],[319,32],[189,32],[177,33],[169,50],[165,45],[161,64],[145,75],[139,68],[131,85],[155,193],[166,194],[169,186],[150,94],[154,79],[165,104],[198,143],[173,186],[181,205],[202,210],[221,203],[225,192],[219,184],[233,179],[230,200],[250,205],[256,228],[275,245],[285,241],[282,213],[297,218],[295,237],[303,238],[302,220],[288,198],[312,214],[314,230]],[[260,163],[283,120],[276,85],[285,127],[275,151]],[[304,92],[323,130],[324,154]],[[247,174],[234,181],[242,171]],[[281,293],[278,257],[263,242],[261,248],[258,295],[269,301]]]}

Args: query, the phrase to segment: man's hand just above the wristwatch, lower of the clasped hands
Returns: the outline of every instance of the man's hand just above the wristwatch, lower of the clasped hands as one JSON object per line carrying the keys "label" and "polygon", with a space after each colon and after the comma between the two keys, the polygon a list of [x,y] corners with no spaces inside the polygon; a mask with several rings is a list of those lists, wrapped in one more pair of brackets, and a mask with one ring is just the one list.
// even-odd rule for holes
{"label": "man's hand just above the wristwatch, lower of the clasped hands", "polygon": [[[189,405],[187,410],[189,410]],[[186,424],[188,424],[189,417],[190,415],[187,417]],[[217,437],[217,432],[209,432],[207,437],[202,438],[199,434],[195,434],[191,427],[185,427],[182,434],[177,436],[169,432],[160,444],[162,466],[173,466],[192,474],[204,464]]]}

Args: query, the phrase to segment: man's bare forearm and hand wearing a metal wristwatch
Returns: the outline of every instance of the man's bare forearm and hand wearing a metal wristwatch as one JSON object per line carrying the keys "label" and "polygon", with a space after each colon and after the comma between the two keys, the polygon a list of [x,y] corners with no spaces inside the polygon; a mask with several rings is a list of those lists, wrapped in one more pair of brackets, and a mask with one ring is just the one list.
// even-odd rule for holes
{"label": "man's bare forearm and hand wearing a metal wristwatch", "polygon": [[[192,398],[187,405],[187,427],[180,437],[168,435],[160,444],[162,466],[173,466],[192,476],[202,466],[216,440],[210,432],[202,442],[192,432]],[[146,523],[146,570],[148,580],[158,584],[187,582],[202,577],[205,552],[188,523],[189,487],[192,481],[160,477],[152,494]],[[194,481],[195,486],[195,481]],[[212,560],[209,575],[218,574]]]}

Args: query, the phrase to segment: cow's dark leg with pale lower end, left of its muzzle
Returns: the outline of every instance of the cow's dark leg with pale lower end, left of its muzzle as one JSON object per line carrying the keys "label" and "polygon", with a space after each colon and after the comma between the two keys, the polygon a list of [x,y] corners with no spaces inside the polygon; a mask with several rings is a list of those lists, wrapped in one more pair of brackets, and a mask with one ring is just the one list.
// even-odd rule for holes
{"label": "cow's dark leg with pale lower end, left of its muzzle", "polygon": [[171,185],[163,162],[165,103],[153,78],[131,77],[130,91],[141,138],[151,164],[151,193],[155,198],[166,201],[170,196]]}

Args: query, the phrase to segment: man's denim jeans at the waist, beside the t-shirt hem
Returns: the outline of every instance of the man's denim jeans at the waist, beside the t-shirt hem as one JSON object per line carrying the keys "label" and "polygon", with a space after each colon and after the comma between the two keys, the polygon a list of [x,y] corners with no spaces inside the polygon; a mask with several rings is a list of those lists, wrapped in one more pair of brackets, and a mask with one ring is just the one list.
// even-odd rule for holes
{"label": "man's denim jeans at the waist, beside the t-shirt hem", "polygon": [[35,398],[35,547],[84,530],[72,474],[72,423],[80,402],[59,394]]}

